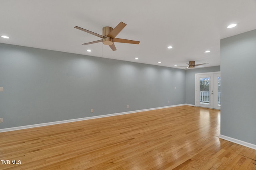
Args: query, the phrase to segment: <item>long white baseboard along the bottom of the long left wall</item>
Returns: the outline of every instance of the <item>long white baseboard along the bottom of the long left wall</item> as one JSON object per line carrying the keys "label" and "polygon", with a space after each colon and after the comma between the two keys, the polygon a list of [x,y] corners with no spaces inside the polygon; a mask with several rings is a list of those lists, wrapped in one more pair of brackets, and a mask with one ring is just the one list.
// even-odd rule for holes
{"label": "long white baseboard along the bottom of the long left wall", "polygon": [[70,123],[70,122],[75,122],[75,121],[97,119],[97,118],[102,118],[102,117],[110,117],[110,116],[116,116],[116,115],[125,115],[125,114],[130,114],[130,113],[137,113],[137,112],[142,112],[142,111],[150,111],[150,110],[164,109],[164,108],[176,107],[176,106],[184,106],[184,105],[192,106],[190,104],[178,104],[178,105],[172,105],[172,106],[156,107],[156,108],[142,109],[142,110],[135,110],[135,111],[126,111],[126,112],[121,112],[121,113],[113,113],[113,114],[108,114],[108,115],[99,115],[99,116],[92,116],[92,117],[82,117],[82,118],[78,118],[78,119],[69,119],[69,120],[63,120],[63,121],[54,121],[54,122],[48,122],[48,123],[40,123],[40,124],[35,124],[35,125],[10,127],[10,128],[0,129],[0,133],[1,132],[8,132],[8,131],[16,131],[16,130],[21,130],[21,129],[28,129],[28,128],[33,128],[33,127],[42,127],[42,126],[48,126],[48,125],[57,125],[57,124],[61,124],[61,123]]}

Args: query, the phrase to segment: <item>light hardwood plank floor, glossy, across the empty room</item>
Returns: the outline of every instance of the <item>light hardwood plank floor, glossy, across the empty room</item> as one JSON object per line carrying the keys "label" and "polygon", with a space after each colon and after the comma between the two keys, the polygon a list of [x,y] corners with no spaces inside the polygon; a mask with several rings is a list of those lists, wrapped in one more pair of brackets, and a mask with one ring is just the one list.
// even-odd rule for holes
{"label": "light hardwood plank floor, glossy, across the empty room", "polygon": [[192,106],[10,131],[0,159],[21,164],[0,169],[256,170],[256,150],[219,135],[220,111]]}

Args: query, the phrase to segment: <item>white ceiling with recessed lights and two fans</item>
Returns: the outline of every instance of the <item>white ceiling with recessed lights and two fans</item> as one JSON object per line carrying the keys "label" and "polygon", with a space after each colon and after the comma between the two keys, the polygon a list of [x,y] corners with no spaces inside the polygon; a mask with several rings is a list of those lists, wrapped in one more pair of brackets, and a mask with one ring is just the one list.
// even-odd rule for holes
{"label": "white ceiling with recessed lights and two fans", "polygon": [[[0,35],[10,37],[0,37],[0,43],[173,68],[189,61],[218,66],[220,39],[256,29],[256,0],[0,0],[0,4]],[[120,21],[127,25],[116,37],[140,41],[139,45],[115,43],[117,51],[102,43],[81,45],[100,38],[74,28],[102,35],[102,27],[114,28]],[[228,29],[231,23],[238,25]]]}

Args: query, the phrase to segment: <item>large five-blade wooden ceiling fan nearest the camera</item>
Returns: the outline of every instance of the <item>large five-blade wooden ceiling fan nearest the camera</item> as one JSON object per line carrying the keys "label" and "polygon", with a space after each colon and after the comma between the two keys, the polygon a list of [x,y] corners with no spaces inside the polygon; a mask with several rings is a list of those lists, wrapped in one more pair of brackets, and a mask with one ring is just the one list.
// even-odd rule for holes
{"label": "large five-blade wooden ceiling fan nearest the camera", "polygon": [[90,33],[92,35],[95,35],[97,37],[100,37],[102,39],[97,40],[97,41],[92,41],[90,43],[84,43],[82,45],[88,45],[88,44],[94,44],[94,43],[100,43],[102,42],[105,45],[109,45],[109,47],[113,50],[116,51],[116,46],[114,45],[115,43],[129,43],[129,44],[139,44],[140,41],[133,41],[133,40],[129,40],[129,39],[120,39],[120,38],[116,38],[116,35],[118,35],[118,33],[120,33],[122,31],[122,29],[124,29],[124,27],[126,26],[125,23],[120,22],[114,29],[112,27],[103,27],[102,28],[102,35],[94,33],[92,31],[89,31],[87,29],[83,29],[81,27],[74,27],[76,29],[80,29],[81,31]]}

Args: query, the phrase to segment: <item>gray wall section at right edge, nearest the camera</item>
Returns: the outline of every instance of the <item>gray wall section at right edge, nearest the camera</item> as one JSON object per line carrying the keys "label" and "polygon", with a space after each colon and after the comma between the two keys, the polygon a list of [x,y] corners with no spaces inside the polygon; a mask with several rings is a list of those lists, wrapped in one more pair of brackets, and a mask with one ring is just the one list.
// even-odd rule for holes
{"label": "gray wall section at right edge, nearest the camera", "polygon": [[256,145],[256,30],[220,41],[221,135]]}

